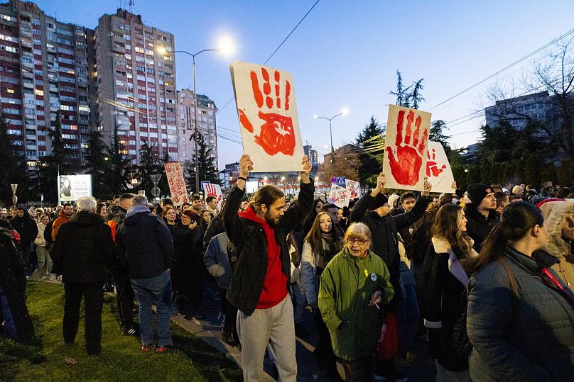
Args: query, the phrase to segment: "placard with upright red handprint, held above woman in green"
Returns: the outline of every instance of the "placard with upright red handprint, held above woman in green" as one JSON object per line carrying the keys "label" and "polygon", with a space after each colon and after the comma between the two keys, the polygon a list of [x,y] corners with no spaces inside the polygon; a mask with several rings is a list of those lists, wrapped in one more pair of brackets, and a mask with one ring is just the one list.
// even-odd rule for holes
{"label": "placard with upright red handprint, held above woman in green", "polygon": [[387,189],[423,189],[430,113],[389,105],[383,174]]}

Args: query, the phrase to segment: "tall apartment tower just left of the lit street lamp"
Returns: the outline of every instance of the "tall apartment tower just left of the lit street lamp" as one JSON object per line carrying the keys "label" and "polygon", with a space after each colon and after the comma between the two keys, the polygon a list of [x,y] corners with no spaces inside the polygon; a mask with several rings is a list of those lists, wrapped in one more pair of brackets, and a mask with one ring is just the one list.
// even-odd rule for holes
{"label": "tall apartment tower just left of the lit street lamp", "polygon": [[117,131],[134,163],[144,142],[160,159],[177,160],[173,34],[118,9],[99,18],[94,50],[97,129],[108,143]]}

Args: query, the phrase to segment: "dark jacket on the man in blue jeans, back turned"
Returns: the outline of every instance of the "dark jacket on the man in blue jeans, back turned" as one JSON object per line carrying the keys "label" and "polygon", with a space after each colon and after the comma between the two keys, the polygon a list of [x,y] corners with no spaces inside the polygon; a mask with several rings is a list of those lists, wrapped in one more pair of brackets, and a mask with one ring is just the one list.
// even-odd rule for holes
{"label": "dark jacket on the man in blue jeans, back turned", "polygon": [[133,213],[132,208],[116,233],[119,261],[126,264],[130,279],[159,276],[173,264],[171,234],[158,215]]}

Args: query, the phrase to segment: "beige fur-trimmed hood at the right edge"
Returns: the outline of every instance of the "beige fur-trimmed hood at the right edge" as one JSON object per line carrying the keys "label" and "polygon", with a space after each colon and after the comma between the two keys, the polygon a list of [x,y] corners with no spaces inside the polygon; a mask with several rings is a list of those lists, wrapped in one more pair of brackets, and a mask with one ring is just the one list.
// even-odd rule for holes
{"label": "beige fur-trimmed hood at the right edge", "polygon": [[552,208],[543,210],[544,226],[548,231],[544,250],[554,257],[570,254],[570,245],[562,238],[562,226],[570,213],[574,213],[574,199],[553,202]]}

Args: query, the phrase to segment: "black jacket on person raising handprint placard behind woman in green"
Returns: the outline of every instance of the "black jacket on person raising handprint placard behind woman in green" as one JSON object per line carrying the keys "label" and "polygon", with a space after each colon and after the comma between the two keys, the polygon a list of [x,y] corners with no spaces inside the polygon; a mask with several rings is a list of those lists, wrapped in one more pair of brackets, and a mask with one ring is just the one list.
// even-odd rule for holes
{"label": "black jacket on person raising handprint placard behind woman in green", "polygon": [[386,267],[389,268],[391,273],[391,284],[395,289],[395,294],[391,305],[396,304],[399,298],[402,298],[401,286],[399,280],[401,279],[401,255],[399,254],[399,239],[397,232],[420,219],[425,213],[426,206],[430,202],[430,198],[418,196],[415,206],[408,213],[401,215],[381,216],[375,211],[369,211],[368,208],[374,201],[371,193],[365,193],[359,201],[354,205],[351,213],[352,222],[363,222],[371,230],[372,240],[369,249],[376,253],[383,259]]}

